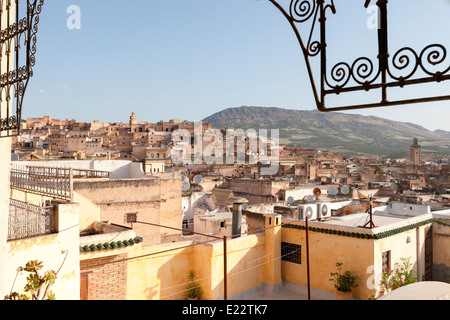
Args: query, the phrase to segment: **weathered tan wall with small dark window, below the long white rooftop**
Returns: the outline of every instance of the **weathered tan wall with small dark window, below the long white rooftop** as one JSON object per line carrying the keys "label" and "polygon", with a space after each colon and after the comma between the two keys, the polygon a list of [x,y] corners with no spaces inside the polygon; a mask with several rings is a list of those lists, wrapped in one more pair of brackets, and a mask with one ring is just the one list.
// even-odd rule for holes
{"label": "weathered tan wall with small dark window, below the long white rooftop", "polygon": [[[74,191],[75,200],[82,205],[82,227],[95,221],[129,227],[125,215],[137,213],[138,221],[182,228],[179,174],[164,173],[146,179],[76,180]],[[181,231],[139,223],[133,224],[133,228],[144,238],[144,245],[160,243],[166,235],[181,234]]]}

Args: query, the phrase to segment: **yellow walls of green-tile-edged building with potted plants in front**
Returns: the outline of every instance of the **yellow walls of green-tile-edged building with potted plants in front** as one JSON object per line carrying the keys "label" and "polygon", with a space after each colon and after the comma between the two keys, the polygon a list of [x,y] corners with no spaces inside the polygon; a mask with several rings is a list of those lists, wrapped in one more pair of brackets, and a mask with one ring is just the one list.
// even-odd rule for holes
{"label": "yellow walls of green-tile-edged building with potted plants in front", "polygon": [[[317,224],[312,225],[317,226]],[[382,253],[391,251],[391,267],[402,258],[410,258],[413,270],[422,276],[425,270],[425,230],[429,224],[378,240],[309,232],[311,287],[335,292],[330,273],[336,272],[336,262],[342,262],[343,271],[358,276],[358,287],[353,290],[358,299],[367,300],[379,291],[382,273]],[[283,261],[283,280],[302,286],[306,277],[306,233],[304,230],[283,228],[282,241],[302,246],[302,263]],[[407,242],[408,240],[408,242]]]}

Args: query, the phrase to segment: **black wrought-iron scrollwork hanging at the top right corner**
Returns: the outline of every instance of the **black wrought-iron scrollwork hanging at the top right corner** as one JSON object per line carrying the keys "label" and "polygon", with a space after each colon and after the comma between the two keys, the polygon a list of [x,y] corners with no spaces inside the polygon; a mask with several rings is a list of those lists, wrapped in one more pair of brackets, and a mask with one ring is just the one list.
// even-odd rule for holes
{"label": "black wrought-iron scrollwork hanging at the top right corner", "polygon": [[[336,14],[334,0],[326,4],[325,0],[289,0],[289,6],[282,6],[277,0],[269,0],[277,7],[290,23],[302,49],[307,72],[310,78],[317,109],[322,112],[343,111],[387,107],[423,102],[450,100],[450,95],[389,100],[388,89],[404,88],[405,86],[442,82],[450,79],[450,66],[444,65],[447,50],[441,44],[425,47],[420,53],[410,47],[404,47],[395,52],[392,59],[389,54],[388,38],[388,0],[378,0],[378,66],[367,57],[360,57],[352,64],[339,62],[328,73],[326,20],[327,13]],[[371,0],[365,0],[368,8]],[[299,26],[305,22],[311,23],[307,37],[302,37]],[[314,40],[314,32],[320,28],[320,39]],[[307,41],[304,41],[307,39]],[[311,59],[320,57],[319,87],[311,67]],[[440,68],[439,71],[433,71]],[[432,70],[433,69],[433,70]],[[404,73],[403,75],[397,75]],[[418,75],[420,73],[420,75]],[[363,92],[380,89],[380,100],[375,103],[354,104],[343,106],[326,106],[326,97],[340,95],[345,92]]]}

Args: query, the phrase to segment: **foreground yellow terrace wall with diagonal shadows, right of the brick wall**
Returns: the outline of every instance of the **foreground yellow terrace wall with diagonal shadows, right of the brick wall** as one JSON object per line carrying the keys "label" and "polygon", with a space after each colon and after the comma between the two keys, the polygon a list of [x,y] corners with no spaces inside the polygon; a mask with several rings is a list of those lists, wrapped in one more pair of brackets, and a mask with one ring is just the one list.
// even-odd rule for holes
{"label": "foreground yellow terrace wall with diagonal shadows, right of the brick wall", "polygon": [[[189,270],[198,275],[202,299],[223,299],[223,242],[177,242],[142,247],[128,251],[128,292],[130,300],[184,299]],[[183,248],[186,247],[187,248]],[[228,296],[243,293],[263,283],[264,236],[253,235],[227,241]],[[157,253],[176,249],[174,251]],[[110,254],[114,251],[109,251]],[[89,258],[98,258],[91,253]],[[117,253],[115,253],[117,254]],[[82,259],[84,254],[82,254]],[[141,257],[134,259],[135,257]],[[86,257],[87,258],[87,257]]]}

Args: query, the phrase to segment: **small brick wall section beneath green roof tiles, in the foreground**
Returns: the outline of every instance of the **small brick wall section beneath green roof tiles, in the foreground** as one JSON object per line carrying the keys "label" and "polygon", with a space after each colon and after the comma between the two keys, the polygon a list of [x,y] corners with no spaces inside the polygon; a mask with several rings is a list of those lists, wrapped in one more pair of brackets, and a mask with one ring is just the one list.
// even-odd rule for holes
{"label": "small brick wall section beneath green roof tiles, in the foreground", "polygon": [[127,294],[127,262],[120,260],[127,257],[127,254],[121,254],[80,261],[81,275],[87,278],[87,297],[85,299],[125,300]]}

